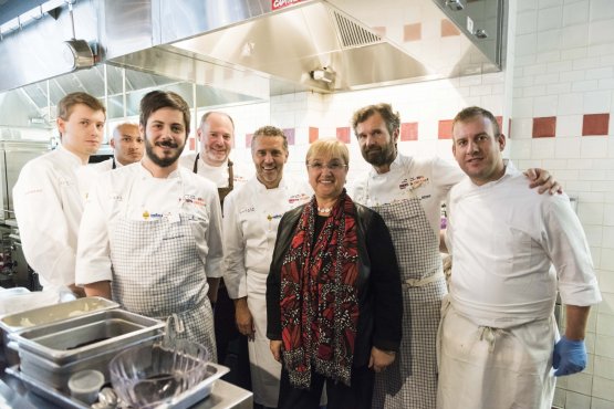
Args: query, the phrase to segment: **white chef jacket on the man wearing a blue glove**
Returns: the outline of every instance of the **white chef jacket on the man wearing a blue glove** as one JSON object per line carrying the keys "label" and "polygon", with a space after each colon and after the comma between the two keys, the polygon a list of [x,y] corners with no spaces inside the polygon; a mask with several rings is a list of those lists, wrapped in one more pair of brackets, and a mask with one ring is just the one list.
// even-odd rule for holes
{"label": "white chef jacket on the man wearing a blue glove", "polygon": [[509,162],[499,180],[458,183],[449,206],[450,296],[477,325],[501,328],[547,318],[556,286],[568,305],[601,301],[586,237],[566,195],[529,189]]}

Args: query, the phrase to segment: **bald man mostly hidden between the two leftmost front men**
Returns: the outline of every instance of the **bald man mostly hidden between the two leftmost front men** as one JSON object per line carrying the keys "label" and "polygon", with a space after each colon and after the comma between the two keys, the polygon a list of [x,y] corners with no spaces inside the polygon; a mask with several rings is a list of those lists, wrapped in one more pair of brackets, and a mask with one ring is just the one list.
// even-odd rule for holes
{"label": "bald man mostly hidden between the two leftmost front men", "polygon": [[113,157],[92,165],[97,171],[106,171],[121,166],[134,164],[143,158],[145,143],[138,132],[138,125],[132,123],[119,124],[113,129],[108,141],[113,148]]}

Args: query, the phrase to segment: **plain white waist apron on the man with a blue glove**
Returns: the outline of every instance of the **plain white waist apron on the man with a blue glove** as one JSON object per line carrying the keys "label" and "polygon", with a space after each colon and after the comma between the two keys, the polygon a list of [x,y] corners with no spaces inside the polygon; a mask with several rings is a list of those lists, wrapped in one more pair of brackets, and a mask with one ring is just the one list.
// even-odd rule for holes
{"label": "plain white waist apron on the man with a blue glove", "polygon": [[511,328],[478,326],[444,300],[438,409],[550,409],[556,323],[551,316]]}

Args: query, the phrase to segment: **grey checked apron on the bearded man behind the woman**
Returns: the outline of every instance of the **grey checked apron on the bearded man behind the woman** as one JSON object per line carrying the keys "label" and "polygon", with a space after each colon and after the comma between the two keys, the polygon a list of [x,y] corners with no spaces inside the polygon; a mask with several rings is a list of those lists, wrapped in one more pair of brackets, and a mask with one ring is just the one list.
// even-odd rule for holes
{"label": "grey checked apron on the bearded man behind the woman", "polygon": [[436,337],[447,293],[439,237],[420,200],[374,206],[393,239],[403,283],[403,339],[397,358],[376,374],[373,408],[430,409],[437,399]]}

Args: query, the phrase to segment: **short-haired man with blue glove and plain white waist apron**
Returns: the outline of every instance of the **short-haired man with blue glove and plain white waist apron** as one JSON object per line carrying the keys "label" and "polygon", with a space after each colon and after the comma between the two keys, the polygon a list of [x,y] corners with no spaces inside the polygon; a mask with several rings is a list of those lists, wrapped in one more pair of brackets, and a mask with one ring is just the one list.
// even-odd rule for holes
{"label": "short-haired man with blue glove and plain white waist apron", "polygon": [[527,189],[503,162],[506,137],[490,112],[462,109],[452,137],[469,178],[450,191],[438,408],[550,409],[554,377],[586,366],[586,319],[601,301],[586,237],[566,195]]}

